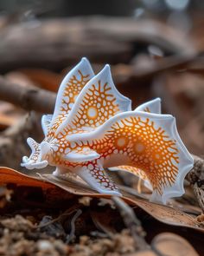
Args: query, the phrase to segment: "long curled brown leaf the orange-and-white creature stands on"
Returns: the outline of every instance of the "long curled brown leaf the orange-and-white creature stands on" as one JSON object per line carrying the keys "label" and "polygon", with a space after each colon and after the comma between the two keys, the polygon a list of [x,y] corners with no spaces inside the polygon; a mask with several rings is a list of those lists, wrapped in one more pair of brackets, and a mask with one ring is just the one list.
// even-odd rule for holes
{"label": "long curled brown leaf the orange-and-white creature stands on", "polygon": [[[29,187],[42,187],[44,189],[57,187],[70,194],[83,195],[95,198],[110,199],[108,194],[99,194],[88,187],[86,183],[77,178],[55,177],[53,174],[42,174],[39,178],[21,174],[14,169],[0,167],[0,184],[15,183],[17,185]],[[121,191],[123,200],[131,206],[140,207],[153,218],[165,224],[173,226],[186,226],[204,232],[203,226],[187,213],[183,213],[173,207],[158,205],[148,200],[140,199],[136,196]]]}

